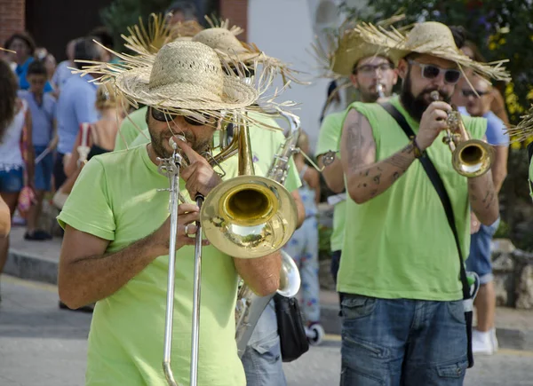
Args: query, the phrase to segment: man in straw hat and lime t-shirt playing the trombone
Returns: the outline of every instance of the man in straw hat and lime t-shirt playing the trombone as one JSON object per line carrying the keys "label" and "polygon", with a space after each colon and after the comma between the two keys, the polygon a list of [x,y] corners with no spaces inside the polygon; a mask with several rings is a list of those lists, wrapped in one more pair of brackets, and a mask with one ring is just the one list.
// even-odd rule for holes
{"label": "man in straw hat and lime t-shirt playing the trombone", "polygon": [[[168,43],[146,62],[97,63],[88,71],[104,75],[125,98],[148,106],[151,140],[93,157],[58,217],[65,228],[60,298],[75,309],[96,302],[86,384],[166,384],[162,361],[170,185],[158,166],[159,158],[173,153],[171,138],[186,160],[179,170],[179,193],[186,203],[178,208],[171,368],[179,384],[188,384],[200,211],[194,199],[238,174],[236,156],[225,162],[226,175],[220,177],[201,154],[227,113],[246,119],[259,92],[225,75],[217,53],[195,42]],[[207,240],[202,254],[198,384],[244,385],[235,345],[237,279],[242,277],[258,295],[274,293],[280,254],[239,259]]]}

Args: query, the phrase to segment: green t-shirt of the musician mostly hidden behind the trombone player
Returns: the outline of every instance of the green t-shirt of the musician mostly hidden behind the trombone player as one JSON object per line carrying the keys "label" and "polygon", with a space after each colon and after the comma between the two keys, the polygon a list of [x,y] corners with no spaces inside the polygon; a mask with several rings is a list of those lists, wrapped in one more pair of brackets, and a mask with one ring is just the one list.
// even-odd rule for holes
{"label": "green t-shirt of the musician mostly hidden behind the trombone player", "polygon": [[[279,127],[273,118],[265,116],[263,114],[250,113],[251,118],[256,121],[266,123],[273,127]],[[215,132],[215,142],[218,143],[218,133]],[[130,147],[136,147],[139,145],[144,145],[150,142],[150,135],[148,130],[143,130],[137,138],[135,138]],[[265,176],[268,169],[270,169],[270,164],[274,160],[274,154],[277,153],[280,146],[285,143],[285,136],[281,130],[268,130],[258,125],[251,125],[250,127],[250,145],[251,145],[251,154],[254,163],[255,173],[258,176]],[[115,149],[116,150],[116,149]],[[300,187],[301,181],[298,176],[298,169],[292,158],[289,161],[289,172],[285,180],[285,187],[289,192],[293,192]]]}

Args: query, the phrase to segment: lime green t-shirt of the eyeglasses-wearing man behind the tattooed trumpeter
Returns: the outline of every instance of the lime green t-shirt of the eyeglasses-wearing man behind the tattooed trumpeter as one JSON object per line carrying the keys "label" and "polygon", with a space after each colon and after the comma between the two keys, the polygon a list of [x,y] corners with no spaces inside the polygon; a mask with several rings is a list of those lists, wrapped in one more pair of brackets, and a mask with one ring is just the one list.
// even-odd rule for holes
{"label": "lime green t-shirt of the eyeglasses-wearing man behind the tattooed trumpeter", "polygon": [[[321,155],[333,150],[339,150],[340,136],[342,134],[342,123],[344,122],[346,111],[328,114],[322,121],[318,143],[316,145],[316,155]],[[335,154],[340,158],[340,154]],[[349,199],[348,199],[349,200]],[[333,232],[331,232],[331,251],[342,250],[344,242],[344,232],[346,223],[346,201],[338,202],[333,209]]]}

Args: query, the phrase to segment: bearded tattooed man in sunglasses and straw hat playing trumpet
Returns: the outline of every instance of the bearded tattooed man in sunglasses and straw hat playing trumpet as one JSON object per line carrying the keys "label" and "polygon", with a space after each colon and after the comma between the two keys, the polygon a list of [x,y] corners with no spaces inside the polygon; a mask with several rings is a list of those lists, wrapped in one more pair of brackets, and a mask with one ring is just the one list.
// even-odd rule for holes
{"label": "bearded tattooed man in sunglasses and straw hat playing trumpet", "polygon": [[[354,103],[347,110],[340,141],[351,198],[338,272],[341,384],[460,385],[468,365],[463,299],[470,288],[463,290],[459,272],[470,240],[470,208],[490,225],[498,203],[490,173],[466,178],[453,169],[443,131],[459,66],[506,74],[465,57],[441,23],[418,24],[407,36],[368,25],[355,29],[398,62],[402,91],[390,106],[415,136],[402,130],[388,112],[394,110],[386,110],[390,106]],[[473,138],[483,138],[483,118],[464,122]],[[433,162],[443,181],[458,242],[421,157]]]}

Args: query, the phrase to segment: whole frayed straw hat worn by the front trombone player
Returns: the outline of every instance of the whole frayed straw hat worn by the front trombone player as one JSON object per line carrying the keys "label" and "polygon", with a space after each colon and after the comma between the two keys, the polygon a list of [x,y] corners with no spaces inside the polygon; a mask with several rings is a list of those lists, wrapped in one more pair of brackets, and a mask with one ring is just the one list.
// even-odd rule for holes
{"label": "whole frayed straw hat worn by the front trombone player", "polygon": [[224,118],[227,113],[244,116],[259,98],[253,86],[226,75],[218,54],[203,43],[168,43],[155,56],[114,53],[122,63],[93,63],[80,72],[102,75],[99,83],[114,82],[134,106]]}

